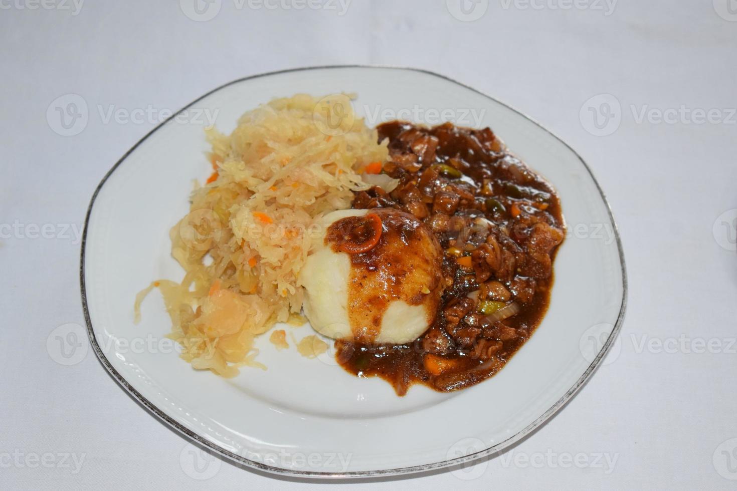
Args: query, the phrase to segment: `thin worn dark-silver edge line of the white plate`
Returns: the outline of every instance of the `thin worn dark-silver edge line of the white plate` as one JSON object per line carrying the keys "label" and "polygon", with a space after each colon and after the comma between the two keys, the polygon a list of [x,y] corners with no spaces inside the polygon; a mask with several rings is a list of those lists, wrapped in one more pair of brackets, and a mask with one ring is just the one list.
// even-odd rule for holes
{"label": "thin worn dark-silver edge line of the white plate", "polygon": [[[441,462],[432,462],[430,464],[420,464],[420,465],[415,465],[415,466],[410,466],[410,467],[397,467],[394,469],[381,469],[381,470],[359,470],[359,471],[352,471],[352,472],[346,472],[346,473],[329,473],[329,472],[318,472],[318,471],[307,471],[307,470],[288,470],[282,467],[275,467],[275,466],[271,466],[268,464],[264,464],[262,462],[257,462],[251,459],[247,459],[243,456],[238,455],[237,453],[233,453],[231,451],[227,451],[224,448],[220,448],[220,446],[201,437],[200,435],[196,434],[194,431],[189,430],[189,428],[186,428],[184,425],[182,425],[178,421],[174,420],[172,417],[165,414],[164,411],[161,411],[161,409],[159,409],[158,406],[156,406],[156,404],[152,403],[147,398],[144,398],[144,396],[140,392],[138,392],[135,388],[133,388],[133,386],[128,384],[128,381],[125,379],[125,377],[123,377],[111,365],[110,361],[108,361],[107,356],[105,356],[105,353],[102,352],[102,348],[97,342],[97,337],[95,336],[94,328],[92,327],[92,322],[90,319],[90,314],[89,314],[88,305],[87,305],[87,289],[85,285],[85,250],[86,250],[86,244],[87,244],[87,231],[88,231],[89,220],[91,217],[92,208],[94,207],[94,202],[97,199],[99,192],[102,190],[102,187],[105,186],[105,183],[111,177],[113,172],[115,172],[116,169],[118,169],[119,166],[121,166],[122,163],[125,162],[128,156],[136,148],[138,148],[139,145],[141,145],[151,135],[153,135],[153,133],[156,133],[156,131],[161,129],[161,127],[164,127],[165,124],[167,124],[170,120],[174,119],[176,116],[182,113],[182,111],[187,110],[189,107],[192,107],[192,105],[197,104],[202,99],[205,99],[207,96],[211,95],[212,93],[220,91],[221,89],[229,87],[230,85],[235,85],[240,82],[245,82],[246,80],[254,80],[257,78],[269,77],[269,76],[278,75],[278,74],[293,73],[293,72],[298,72],[298,71],[343,69],[343,68],[388,68],[392,70],[415,71],[418,73],[430,75],[432,77],[439,77],[448,82],[452,82],[455,85],[459,85],[463,88],[467,88],[471,91],[474,91],[475,93],[478,93],[481,96],[484,96],[487,99],[491,99],[497,104],[503,105],[509,110],[514,111],[514,113],[517,113],[520,116],[523,116],[523,118],[536,124],[538,127],[540,127],[542,130],[545,130],[546,133],[551,135],[557,141],[565,145],[567,149],[570,149],[570,151],[573,152],[573,155],[576,155],[576,158],[578,158],[581,161],[581,163],[584,166],[584,169],[586,169],[589,176],[593,180],[593,183],[596,186],[596,189],[599,195],[601,196],[601,199],[604,201],[605,207],[607,208],[607,214],[609,216],[609,220],[612,222],[612,228],[614,230],[615,241],[616,241],[617,250],[619,253],[619,261],[621,264],[622,303],[620,305],[619,314],[617,316],[617,320],[615,322],[614,328],[612,328],[612,332],[609,333],[609,337],[607,338],[607,342],[604,343],[604,347],[602,347],[598,355],[594,358],[594,360],[591,362],[589,367],[587,367],[586,371],[581,375],[581,377],[576,381],[576,383],[573,384],[573,386],[570,389],[568,389],[567,392],[564,395],[562,395],[562,397],[559,400],[557,400],[556,403],[553,404],[553,406],[551,406],[550,409],[548,409],[540,417],[538,417],[537,420],[534,420],[534,422],[530,423],[525,428],[517,432],[517,434],[514,434],[507,439],[504,439],[503,441],[497,443],[496,445],[492,445],[488,448],[485,448],[475,453],[471,453],[467,456],[458,457],[456,459],[447,459]],[[366,478],[366,477],[381,477],[381,476],[405,476],[405,475],[413,474],[413,473],[421,473],[421,472],[427,472],[431,470],[440,470],[446,467],[453,467],[455,465],[467,464],[477,459],[482,459],[484,457],[491,456],[495,453],[500,453],[500,451],[503,451],[503,449],[508,448],[511,445],[514,445],[514,443],[520,441],[520,439],[523,439],[528,434],[531,434],[535,429],[539,428],[539,426],[541,426],[542,424],[550,420],[551,417],[553,417],[553,415],[556,414],[556,412],[559,411],[559,409],[561,409],[562,406],[565,406],[565,403],[567,403],[571,398],[573,398],[573,396],[576,395],[576,392],[578,392],[579,389],[581,389],[581,387],[584,386],[584,384],[588,381],[588,379],[593,375],[593,372],[595,372],[595,370],[601,364],[601,361],[604,359],[604,356],[606,356],[607,353],[609,353],[609,349],[612,347],[612,345],[614,344],[615,340],[617,339],[619,335],[619,332],[621,331],[622,323],[624,322],[626,305],[627,305],[627,297],[628,297],[628,281],[627,281],[626,263],[624,259],[624,247],[622,246],[621,236],[619,234],[617,222],[615,221],[614,215],[612,213],[612,208],[609,205],[609,201],[607,200],[607,196],[606,194],[604,194],[604,190],[599,185],[598,180],[596,180],[596,177],[594,176],[590,167],[586,163],[586,160],[584,160],[584,158],[582,158],[581,155],[579,155],[579,153],[576,152],[575,149],[573,149],[569,144],[567,144],[565,140],[563,140],[558,135],[556,135],[556,133],[553,133],[547,127],[540,124],[537,120],[531,118],[530,116],[523,113],[522,111],[517,110],[511,105],[508,105],[505,102],[502,102],[499,99],[496,99],[495,97],[489,96],[487,93],[484,93],[483,91],[479,91],[476,88],[472,88],[469,85],[466,85],[462,82],[458,82],[457,80],[454,80],[450,77],[446,77],[442,74],[438,74],[430,70],[425,70],[423,68],[413,68],[413,67],[407,67],[407,66],[356,64],[356,65],[326,65],[326,66],[306,66],[306,67],[301,67],[301,68],[287,68],[285,70],[270,71],[270,72],[266,72],[262,74],[242,77],[237,80],[232,80],[231,82],[226,82],[223,85],[220,85],[217,88],[214,88],[211,91],[204,93],[202,96],[199,96],[194,101],[185,105],[180,110],[173,113],[172,116],[167,118],[165,121],[162,121],[152,130],[146,133],[146,135],[144,135],[143,138],[141,138],[139,141],[136,142],[136,144],[130,147],[130,149],[128,149],[128,151],[125,152],[125,154],[113,165],[113,167],[105,174],[105,176],[102,177],[102,180],[99,182],[99,184],[97,185],[97,188],[95,188],[94,193],[92,194],[92,197],[90,199],[90,202],[87,208],[87,213],[85,214],[85,222],[84,222],[84,228],[83,228],[82,241],[80,245],[80,251],[81,251],[80,252],[80,294],[81,294],[81,300],[82,300],[82,309],[83,309],[83,313],[85,317],[85,323],[87,325],[88,339],[94,350],[95,355],[97,356],[97,359],[100,361],[102,366],[105,367],[105,370],[108,371],[108,373],[112,376],[112,378],[122,387],[122,389],[125,389],[125,391],[128,392],[128,394],[131,397],[133,397],[137,402],[142,404],[142,406],[144,406],[144,408],[150,411],[150,413],[153,414],[153,416],[157,417],[163,423],[166,423],[167,425],[169,425],[170,428],[174,429],[179,434],[183,435],[186,439],[189,439],[190,441],[198,443],[200,446],[203,446],[209,451],[217,453],[217,455],[222,456],[230,460],[231,462],[235,462],[236,464],[240,464],[240,465],[249,467],[254,470],[265,471],[267,473],[272,473],[272,474],[276,474],[279,476],[298,477],[298,478]]]}

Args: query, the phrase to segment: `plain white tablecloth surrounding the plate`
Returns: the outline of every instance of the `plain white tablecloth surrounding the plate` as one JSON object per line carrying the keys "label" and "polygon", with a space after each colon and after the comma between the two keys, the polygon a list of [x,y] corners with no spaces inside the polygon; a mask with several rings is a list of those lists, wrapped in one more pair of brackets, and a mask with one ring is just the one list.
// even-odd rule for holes
{"label": "plain white tablecloth surrounding the plate", "polygon": [[[737,2],[467,0],[483,15],[463,21],[457,0],[352,0],[344,15],[339,2],[279,1],[215,1],[202,21],[186,0],[0,0],[0,488],[346,487],[219,460],[193,472],[186,441],[93,353],[65,367],[46,340],[84,325],[75,230],[105,172],[158,122],[105,121],[111,107],[178,110],[251,74],[375,63],[453,77],[570,143],[618,219],[629,309],[607,364],[505,455],[350,486],[735,489]],[[71,136],[55,113],[67,94],[88,105]],[[669,122],[657,110],[671,110]],[[694,122],[709,110],[711,121]]]}

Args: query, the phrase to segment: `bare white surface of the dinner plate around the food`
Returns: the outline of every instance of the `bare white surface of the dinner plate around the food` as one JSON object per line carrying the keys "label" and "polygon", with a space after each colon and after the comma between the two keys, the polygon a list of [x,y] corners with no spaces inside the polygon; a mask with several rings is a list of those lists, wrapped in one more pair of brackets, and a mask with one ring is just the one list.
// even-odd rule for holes
{"label": "bare white surface of the dinner plate around the food", "polygon": [[[192,180],[208,174],[198,121],[217,115],[217,127],[229,132],[242,113],[273,97],[336,92],[357,93],[354,107],[368,124],[400,116],[468,125],[478,116],[559,191],[568,236],[556,258],[550,309],[495,377],[449,394],[413,386],[398,398],[383,380],[355,378],[330,356],[302,358],[293,347],[276,352],[262,336],[259,361],[268,370],[245,369],[225,380],[178,358],[164,339],[170,320],[157,292],[144,303],[142,322],[133,323],[136,292],[154,279],[182,277],[168,230],[188,212]],[[425,71],[338,66],[237,80],[183,111],[130,149],[95,191],[81,282],[102,364],[189,439],[292,476],[393,475],[461,464],[499,452],[545,422],[612,345],[626,278],[607,202],[579,155],[516,110]],[[294,332],[301,338],[312,329]]]}

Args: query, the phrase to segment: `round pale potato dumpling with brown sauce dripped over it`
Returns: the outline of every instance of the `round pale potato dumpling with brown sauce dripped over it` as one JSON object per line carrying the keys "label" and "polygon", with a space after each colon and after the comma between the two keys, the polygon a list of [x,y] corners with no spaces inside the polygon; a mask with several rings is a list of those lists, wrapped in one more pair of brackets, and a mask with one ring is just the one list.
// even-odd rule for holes
{"label": "round pale potato dumpling with brown sauce dripped over it", "polygon": [[442,250],[418,219],[394,209],[324,216],[300,281],[312,327],[366,345],[412,342],[432,324],[443,291]]}

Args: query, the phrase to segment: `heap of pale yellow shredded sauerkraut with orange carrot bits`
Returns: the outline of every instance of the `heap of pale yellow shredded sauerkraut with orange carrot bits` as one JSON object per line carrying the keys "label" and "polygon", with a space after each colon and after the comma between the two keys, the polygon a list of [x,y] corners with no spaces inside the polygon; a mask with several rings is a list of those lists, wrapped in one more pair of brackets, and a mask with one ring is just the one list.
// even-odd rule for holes
{"label": "heap of pale yellow shredded sauerkraut with orange carrot bits", "polygon": [[213,174],[170,231],[184,279],[141,292],[136,320],[158,287],[182,358],[232,377],[242,366],[264,368],[254,338],[298,318],[298,274],[317,220],[349,208],[352,191],[371,186],[363,171],[384,163],[388,150],[343,94],[275,99],[245,113],[230,135],[209,129],[206,137]]}

